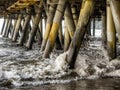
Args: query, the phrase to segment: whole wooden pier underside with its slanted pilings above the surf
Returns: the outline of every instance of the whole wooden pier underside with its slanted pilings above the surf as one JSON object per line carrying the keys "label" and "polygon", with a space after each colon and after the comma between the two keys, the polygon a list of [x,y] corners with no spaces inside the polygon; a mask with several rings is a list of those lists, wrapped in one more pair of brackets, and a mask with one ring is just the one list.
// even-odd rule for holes
{"label": "whole wooden pier underside with its slanted pilings above the surf", "polygon": [[110,60],[117,57],[120,0],[1,0],[0,18],[4,18],[3,37],[27,49],[37,41],[43,58],[49,58],[54,48],[68,52],[70,68],[74,68],[85,34],[91,35],[92,22],[95,35],[98,18],[102,21],[102,45]]}

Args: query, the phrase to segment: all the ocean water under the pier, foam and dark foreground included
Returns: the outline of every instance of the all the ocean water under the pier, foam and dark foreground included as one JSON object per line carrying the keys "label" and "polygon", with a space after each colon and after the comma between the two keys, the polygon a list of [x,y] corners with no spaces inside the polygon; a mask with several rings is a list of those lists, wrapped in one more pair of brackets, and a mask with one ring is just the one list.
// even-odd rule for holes
{"label": "all the ocean water under the pier, foam and dark foreground included", "polygon": [[70,70],[67,52],[53,52],[45,59],[36,43],[27,50],[0,38],[0,89],[119,90],[120,58],[109,61],[98,40],[83,44],[75,69]]}

